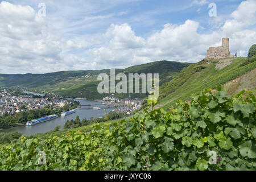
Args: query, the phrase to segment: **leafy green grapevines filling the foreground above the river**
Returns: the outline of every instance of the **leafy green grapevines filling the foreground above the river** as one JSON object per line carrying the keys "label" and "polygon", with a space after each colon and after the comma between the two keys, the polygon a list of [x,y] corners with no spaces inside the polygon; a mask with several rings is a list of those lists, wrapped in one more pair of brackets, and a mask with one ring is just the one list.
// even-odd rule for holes
{"label": "leafy green grapevines filling the foreground above the river", "polygon": [[255,170],[256,99],[204,89],[170,111],[0,146],[1,170]]}

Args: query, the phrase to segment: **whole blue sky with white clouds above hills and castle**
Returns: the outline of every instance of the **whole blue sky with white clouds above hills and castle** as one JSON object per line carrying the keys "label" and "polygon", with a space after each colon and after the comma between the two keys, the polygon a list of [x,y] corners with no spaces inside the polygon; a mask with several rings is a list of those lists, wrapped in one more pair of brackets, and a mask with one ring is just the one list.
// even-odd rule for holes
{"label": "whole blue sky with white clouds above hills and castle", "polygon": [[0,1],[0,73],[195,63],[223,37],[230,53],[247,56],[255,19],[256,0]]}

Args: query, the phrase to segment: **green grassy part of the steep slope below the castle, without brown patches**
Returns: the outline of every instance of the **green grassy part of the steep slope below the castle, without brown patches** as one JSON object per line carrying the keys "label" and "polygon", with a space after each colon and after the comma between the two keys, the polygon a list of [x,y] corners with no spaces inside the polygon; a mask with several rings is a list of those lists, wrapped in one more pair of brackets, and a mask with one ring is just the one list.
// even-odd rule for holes
{"label": "green grassy part of the steep slope below the castle, without brown patches", "polygon": [[232,64],[221,70],[215,69],[218,61],[200,61],[184,68],[175,78],[160,88],[160,106],[168,110],[171,106],[175,106],[177,101],[188,100],[192,94],[204,88],[223,85],[256,68],[256,62],[241,67],[240,64],[245,60],[245,57],[238,57],[232,60]]}

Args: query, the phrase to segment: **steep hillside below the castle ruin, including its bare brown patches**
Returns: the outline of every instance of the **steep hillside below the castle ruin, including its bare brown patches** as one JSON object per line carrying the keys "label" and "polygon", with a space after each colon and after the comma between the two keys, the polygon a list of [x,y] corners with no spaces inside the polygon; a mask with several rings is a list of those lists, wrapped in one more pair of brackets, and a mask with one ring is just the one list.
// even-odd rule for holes
{"label": "steep hillside below the castle ruin, including its bare brown patches", "polygon": [[243,65],[245,62],[246,57],[237,57],[233,60],[203,60],[189,65],[170,82],[166,82],[160,87],[159,107],[169,109],[171,106],[175,106],[177,101],[188,100],[193,94],[199,93],[204,88],[224,84],[230,94],[237,93],[242,89],[253,90],[255,94],[256,62]]}

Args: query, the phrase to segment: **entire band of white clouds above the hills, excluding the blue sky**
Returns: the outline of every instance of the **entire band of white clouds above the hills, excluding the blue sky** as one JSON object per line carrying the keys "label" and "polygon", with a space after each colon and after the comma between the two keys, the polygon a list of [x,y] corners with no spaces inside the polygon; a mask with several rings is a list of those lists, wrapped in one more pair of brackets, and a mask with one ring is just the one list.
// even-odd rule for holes
{"label": "entire band of white clouds above the hills, excluding the blue sky", "polygon": [[[193,1],[204,5],[207,1]],[[210,46],[220,46],[221,38],[230,38],[230,52],[246,56],[256,43],[256,1],[243,1],[229,18],[215,19],[217,31],[200,33],[200,23],[185,20],[182,24],[164,24],[162,30],[138,36],[129,23],[111,24],[104,35],[72,35],[65,38],[59,26],[53,26],[30,6],[0,3],[0,72],[46,73],[60,70],[123,68],[156,60],[200,61]],[[112,14],[82,16],[89,22],[109,19]],[[134,15],[135,17],[135,15]],[[57,22],[57,20],[56,20]],[[126,22],[126,21],[125,21]],[[129,21],[127,21],[129,22]],[[66,24],[65,22],[64,24]],[[85,24],[84,20],[81,24]],[[90,26],[88,23],[85,26]],[[69,28],[68,27],[68,28]],[[85,28],[85,27],[83,27]]]}

